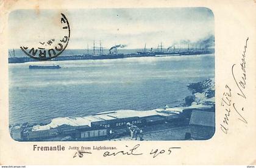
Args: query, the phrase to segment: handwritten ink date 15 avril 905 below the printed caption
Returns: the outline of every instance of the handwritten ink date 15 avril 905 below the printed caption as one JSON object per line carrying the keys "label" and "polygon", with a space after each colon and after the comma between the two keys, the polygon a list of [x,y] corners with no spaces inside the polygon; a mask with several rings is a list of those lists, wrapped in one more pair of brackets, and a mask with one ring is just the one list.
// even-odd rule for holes
{"label": "handwritten ink date 15 avril 905 below the printed caption", "polygon": [[[139,152],[140,144],[135,145],[131,149],[126,145],[126,150],[120,150],[118,152],[110,152],[105,151],[102,156],[116,156],[116,155],[143,155],[144,153]],[[151,152],[149,152],[149,155],[152,155],[153,158],[157,157],[158,155],[162,155],[163,153],[166,153],[167,155],[170,155],[172,153],[172,150],[174,149],[181,149],[181,147],[169,147],[168,149],[152,149]],[[77,152],[74,154],[73,158],[76,156],[79,156],[79,158],[82,158],[84,154],[92,154],[91,152],[87,152],[85,150],[77,150]]]}

